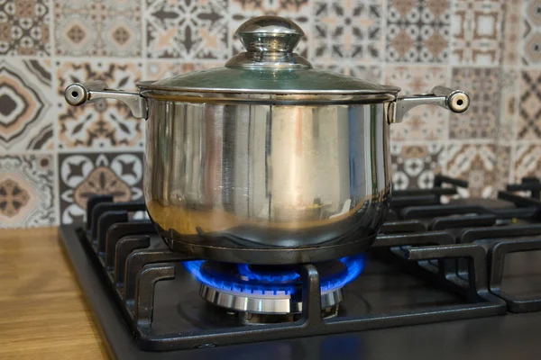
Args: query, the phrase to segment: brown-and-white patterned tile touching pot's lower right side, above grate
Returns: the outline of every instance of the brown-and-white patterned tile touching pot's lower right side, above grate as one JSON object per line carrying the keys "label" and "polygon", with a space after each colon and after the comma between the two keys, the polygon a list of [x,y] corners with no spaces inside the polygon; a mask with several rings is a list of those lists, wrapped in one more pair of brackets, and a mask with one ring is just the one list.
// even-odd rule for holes
{"label": "brown-and-white patterned tile touching pot's lower right side, above grate", "polygon": [[391,142],[392,185],[396,190],[432,187],[442,173],[445,148],[441,144],[402,145]]}

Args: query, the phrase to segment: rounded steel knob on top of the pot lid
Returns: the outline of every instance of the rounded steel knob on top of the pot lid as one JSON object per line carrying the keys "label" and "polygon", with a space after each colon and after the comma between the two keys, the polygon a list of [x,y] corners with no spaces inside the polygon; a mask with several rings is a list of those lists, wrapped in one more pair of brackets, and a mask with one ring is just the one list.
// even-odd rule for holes
{"label": "rounded steel knob on top of the pot lid", "polygon": [[259,16],[243,23],[235,32],[248,51],[293,52],[304,31],[280,16]]}

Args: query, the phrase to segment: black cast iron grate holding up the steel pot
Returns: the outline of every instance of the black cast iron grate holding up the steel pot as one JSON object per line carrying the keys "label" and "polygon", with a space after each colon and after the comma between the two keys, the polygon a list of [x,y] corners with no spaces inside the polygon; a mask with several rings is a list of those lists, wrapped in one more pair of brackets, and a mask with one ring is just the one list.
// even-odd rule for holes
{"label": "black cast iron grate holding up the steel pot", "polygon": [[[444,178],[443,182],[449,184],[453,183],[453,180]],[[429,192],[432,191],[431,194],[437,198],[456,193],[454,187],[441,187],[442,183]],[[457,184],[464,185],[460,182]],[[432,203],[406,208],[405,205],[419,202],[415,199],[414,202],[406,202],[400,199],[400,193],[398,195],[396,197],[398,200],[393,203],[393,208],[398,214],[411,214],[415,211],[422,213],[423,206],[428,206],[428,211],[434,211],[430,206],[447,206]],[[413,192],[405,193],[403,196],[411,199],[417,195],[422,196]],[[144,210],[142,202],[115,203],[110,196],[95,197],[88,202],[88,229],[79,227],[77,234],[78,240],[86,248],[87,255],[95,260],[96,273],[101,273],[98,275],[101,275],[108,284],[110,296],[115,299],[116,306],[133,332],[138,346],[144,350],[170,351],[215,347],[470,319],[505,312],[505,302],[489,291],[487,274],[489,266],[485,248],[475,243],[456,243],[456,235],[449,229],[460,227],[460,220],[448,222],[449,229],[445,229],[445,226],[433,226],[434,219],[430,220],[432,222],[426,222],[425,217],[420,216],[420,219],[400,217],[399,220],[387,222],[371,250],[372,256],[384,263],[401,264],[408,274],[422,279],[430,286],[454,294],[460,299],[460,303],[393,309],[354,316],[347,314],[324,320],[321,317],[319,275],[315,266],[305,265],[302,274],[303,312],[298,321],[198,331],[156,329],[153,326],[156,288],[160,287],[160,284],[179,280],[182,268],[179,264],[193,258],[171,252],[160,238],[156,238],[150,221],[129,220],[130,212],[142,210]],[[473,213],[475,216],[491,214],[498,218],[493,211],[485,210],[478,208]],[[454,215],[455,211],[456,208],[452,208],[451,212]],[[458,213],[471,214],[468,211],[471,209],[463,212],[459,210]],[[449,211],[439,211],[437,215],[445,218],[448,213]],[[463,226],[472,225],[469,218],[463,221],[465,221]],[[68,236],[62,239],[72,241]],[[459,262],[464,266],[463,274],[459,271],[461,269]],[[75,266],[77,267],[77,264]],[[104,321],[106,320],[102,320]]]}

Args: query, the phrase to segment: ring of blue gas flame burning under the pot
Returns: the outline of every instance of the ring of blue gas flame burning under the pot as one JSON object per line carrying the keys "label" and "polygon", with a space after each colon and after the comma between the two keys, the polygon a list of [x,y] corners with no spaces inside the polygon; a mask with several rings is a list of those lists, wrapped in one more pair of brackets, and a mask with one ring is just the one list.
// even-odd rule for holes
{"label": "ring of blue gas flame burning under the pot", "polygon": [[[345,284],[350,283],[357,278],[357,276],[361,275],[362,270],[364,269],[365,262],[363,255],[343,257],[340,261],[344,263],[346,271],[333,277],[321,278],[321,293],[330,293],[343,287]],[[247,278],[246,281],[243,281],[242,279],[237,279],[230,275],[217,277],[206,274],[201,269],[204,262],[205,260],[185,261],[184,266],[186,266],[188,272],[194,275],[199,282],[214,287],[215,289],[233,293],[259,295],[290,295],[298,290],[298,280],[300,279],[300,275],[294,271],[287,271],[283,274],[276,275],[258,274],[250,270],[249,266],[241,264],[238,266],[239,274]],[[276,284],[270,284],[273,281],[276,281]]]}

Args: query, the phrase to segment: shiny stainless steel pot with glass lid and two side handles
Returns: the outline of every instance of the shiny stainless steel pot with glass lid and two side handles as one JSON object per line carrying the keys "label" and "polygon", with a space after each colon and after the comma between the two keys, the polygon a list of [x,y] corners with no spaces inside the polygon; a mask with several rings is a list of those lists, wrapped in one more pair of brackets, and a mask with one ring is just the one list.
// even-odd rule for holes
{"label": "shiny stainless steel pot with glass lid and two side handles", "polygon": [[66,100],[126,103],[147,120],[144,196],[174,250],[252,264],[316,262],[362,252],[389,208],[389,125],[468,95],[399,88],[313,69],[292,52],[298,25],[269,16],[237,31],[247,51],[225,67],[138,84],[95,81]]}

